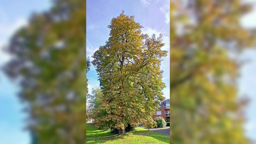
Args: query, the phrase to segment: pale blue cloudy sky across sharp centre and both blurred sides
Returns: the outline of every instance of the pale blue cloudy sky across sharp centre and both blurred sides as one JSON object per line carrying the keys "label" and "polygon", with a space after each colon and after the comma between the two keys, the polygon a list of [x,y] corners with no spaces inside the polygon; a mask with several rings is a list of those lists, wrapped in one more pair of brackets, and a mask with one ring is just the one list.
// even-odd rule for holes
{"label": "pale blue cloudy sky across sharp centre and both blurred sides", "polygon": [[[255,1],[256,0],[250,0]],[[118,16],[122,10],[126,15],[135,16],[144,29],[143,33],[163,33],[166,46],[169,51],[169,22],[167,0],[87,0],[87,55],[91,56],[100,45],[104,45],[109,38],[107,25],[113,17]],[[32,12],[42,12],[50,7],[50,0],[0,0],[0,47],[8,42],[15,30],[26,25]],[[166,17],[167,15],[167,17]],[[256,27],[256,8],[242,19],[245,27]],[[246,134],[252,139],[256,135],[256,51],[248,50],[242,53],[241,58],[250,59],[251,62],[241,68],[239,80],[239,94],[248,95],[251,100],[246,108],[245,123]],[[0,67],[10,59],[0,48]],[[162,62],[164,70],[163,81],[166,83],[164,96],[169,97],[169,54]],[[94,68],[88,73],[89,88],[98,86]],[[29,135],[23,131],[25,126],[23,119],[26,117],[21,112],[23,105],[16,97],[17,85],[10,81],[0,71],[0,144],[28,144]]]}

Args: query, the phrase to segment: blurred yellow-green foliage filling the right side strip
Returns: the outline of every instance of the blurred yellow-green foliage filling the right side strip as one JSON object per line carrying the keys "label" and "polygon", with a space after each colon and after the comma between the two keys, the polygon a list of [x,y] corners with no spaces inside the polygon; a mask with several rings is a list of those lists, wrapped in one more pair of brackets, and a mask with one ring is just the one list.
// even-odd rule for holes
{"label": "blurred yellow-green foliage filling the right side strip", "polygon": [[255,30],[240,26],[250,5],[239,0],[170,4],[170,137],[172,144],[247,144],[237,98],[241,51]]}

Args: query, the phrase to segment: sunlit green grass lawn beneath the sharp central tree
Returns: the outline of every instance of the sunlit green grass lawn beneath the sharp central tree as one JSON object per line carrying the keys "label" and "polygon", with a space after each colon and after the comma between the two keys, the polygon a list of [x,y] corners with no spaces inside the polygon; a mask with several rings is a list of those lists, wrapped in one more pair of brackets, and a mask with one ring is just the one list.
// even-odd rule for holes
{"label": "sunlit green grass lawn beneath the sharp central tree", "polygon": [[110,133],[110,130],[98,130],[94,124],[86,124],[86,144],[169,144],[170,137],[137,127],[124,136]]}

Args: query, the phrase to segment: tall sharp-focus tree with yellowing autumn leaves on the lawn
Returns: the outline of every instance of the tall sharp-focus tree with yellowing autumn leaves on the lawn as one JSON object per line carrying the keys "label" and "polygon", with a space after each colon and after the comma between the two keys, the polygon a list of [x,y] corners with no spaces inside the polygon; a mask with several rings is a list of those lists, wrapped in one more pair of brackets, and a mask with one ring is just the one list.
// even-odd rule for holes
{"label": "tall sharp-focus tree with yellowing autumn leaves on the lawn", "polygon": [[155,106],[164,100],[160,64],[167,51],[161,50],[162,35],[142,34],[143,27],[124,11],[108,28],[110,38],[92,56],[103,93],[96,126],[114,127],[119,135],[128,124],[153,127]]}

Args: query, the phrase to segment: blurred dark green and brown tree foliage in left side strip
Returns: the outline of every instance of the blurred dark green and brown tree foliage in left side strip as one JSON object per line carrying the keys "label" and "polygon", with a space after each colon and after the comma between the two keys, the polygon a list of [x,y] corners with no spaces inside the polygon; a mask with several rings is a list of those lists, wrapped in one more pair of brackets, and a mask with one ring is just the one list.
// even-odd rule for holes
{"label": "blurred dark green and brown tree foliage in left side strip", "polygon": [[6,49],[14,58],[4,70],[20,81],[34,143],[85,143],[85,6],[84,0],[55,0],[48,12],[34,14]]}

